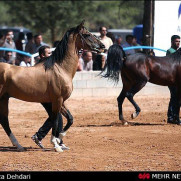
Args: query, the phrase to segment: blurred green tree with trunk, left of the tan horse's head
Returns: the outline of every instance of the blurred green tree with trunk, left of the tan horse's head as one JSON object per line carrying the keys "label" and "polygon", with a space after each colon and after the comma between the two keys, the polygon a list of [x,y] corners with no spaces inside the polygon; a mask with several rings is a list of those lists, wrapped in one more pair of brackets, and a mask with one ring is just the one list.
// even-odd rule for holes
{"label": "blurred green tree with trunk, left of the tan horse's head", "polygon": [[23,25],[41,33],[50,32],[51,42],[57,39],[57,34],[80,23],[89,12],[87,7],[91,7],[90,2],[80,1],[8,1],[6,4],[13,15],[13,25]]}

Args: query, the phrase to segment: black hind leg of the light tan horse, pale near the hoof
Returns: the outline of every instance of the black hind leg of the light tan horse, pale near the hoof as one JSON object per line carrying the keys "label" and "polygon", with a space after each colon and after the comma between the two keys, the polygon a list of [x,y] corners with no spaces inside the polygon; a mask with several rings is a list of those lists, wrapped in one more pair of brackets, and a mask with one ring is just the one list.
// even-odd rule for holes
{"label": "black hind leg of the light tan horse, pale near the hoof", "polygon": [[5,130],[6,134],[8,135],[9,139],[11,140],[13,146],[15,146],[18,149],[18,151],[25,151],[25,149],[18,143],[17,139],[15,138],[9,127],[8,102],[8,96],[3,96],[0,99],[0,123],[3,129]]}

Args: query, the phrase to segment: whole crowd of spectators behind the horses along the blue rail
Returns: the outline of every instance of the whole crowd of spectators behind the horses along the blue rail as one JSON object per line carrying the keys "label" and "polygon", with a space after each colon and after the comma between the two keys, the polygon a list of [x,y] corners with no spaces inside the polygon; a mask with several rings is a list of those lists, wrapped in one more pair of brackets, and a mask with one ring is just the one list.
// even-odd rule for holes
{"label": "whole crowd of spectators behind the horses along the blue rail", "polygon": [[[117,43],[122,47],[137,46],[136,38],[133,35],[126,36],[126,43],[122,44],[122,37],[117,39],[110,32],[107,32],[107,28],[102,26],[99,28],[100,40],[105,45],[104,55],[95,54],[91,51],[83,50],[79,54],[79,63],[77,71],[93,71],[102,70],[106,61],[106,53],[111,45]],[[26,40],[25,40],[26,36]],[[59,41],[55,41],[53,47],[56,47]],[[37,53],[41,46],[49,46],[47,43],[43,42],[43,36],[41,34],[33,35],[31,32],[26,35],[23,32],[19,33],[18,40],[14,41],[13,31],[9,30],[5,35],[0,34],[0,47],[17,49],[20,51],[25,51],[30,54]],[[49,46],[50,47],[50,46]],[[126,54],[136,53],[138,50],[126,51]],[[38,58],[35,59],[38,61]],[[26,55],[21,55],[16,52],[11,51],[0,51],[0,62],[6,62],[18,66],[30,66],[31,58]]]}

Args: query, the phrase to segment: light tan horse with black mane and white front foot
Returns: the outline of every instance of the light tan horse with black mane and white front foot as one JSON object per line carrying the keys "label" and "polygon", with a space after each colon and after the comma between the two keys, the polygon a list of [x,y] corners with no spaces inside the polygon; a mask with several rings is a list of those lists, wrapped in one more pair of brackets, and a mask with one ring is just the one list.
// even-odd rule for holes
{"label": "light tan horse with black mane and white front foot", "polygon": [[[12,144],[19,151],[24,148],[13,135],[8,120],[8,102],[10,97],[37,103],[52,103],[52,137],[55,151],[58,145],[58,113],[67,118],[66,130],[70,127],[72,116],[64,106],[73,90],[72,79],[78,65],[80,49],[100,52],[104,45],[85,27],[84,22],[69,29],[50,57],[43,59],[34,67],[19,67],[0,63],[0,123]],[[72,121],[72,120],[71,120]]]}

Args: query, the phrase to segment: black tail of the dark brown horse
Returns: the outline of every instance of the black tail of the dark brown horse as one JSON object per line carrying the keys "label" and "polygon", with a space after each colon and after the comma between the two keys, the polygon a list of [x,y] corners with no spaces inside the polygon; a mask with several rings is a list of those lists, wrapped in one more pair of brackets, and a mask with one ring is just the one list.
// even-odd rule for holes
{"label": "black tail of the dark brown horse", "polygon": [[[110,78],[116,83],[119,81],[119,73],[123,67],[123,60],[126,54],[120,45],[114,44],[109,47],[107,60],[104,69],[100,74],[105,78]],[[103,74],[105,72],[105,74]]]}

